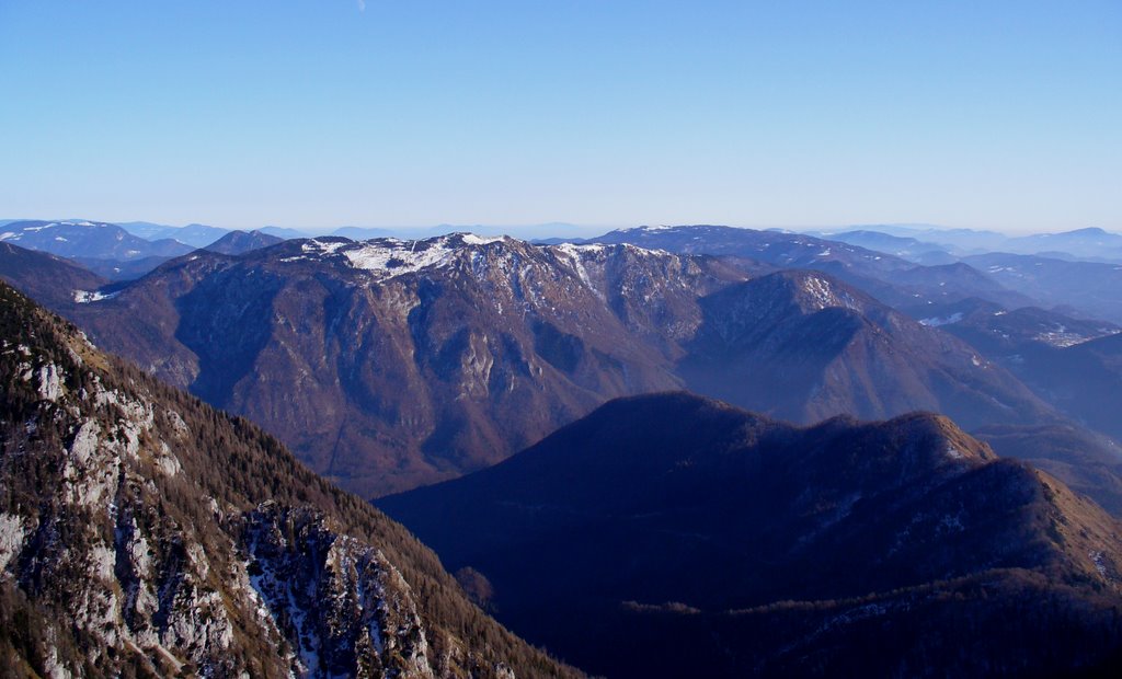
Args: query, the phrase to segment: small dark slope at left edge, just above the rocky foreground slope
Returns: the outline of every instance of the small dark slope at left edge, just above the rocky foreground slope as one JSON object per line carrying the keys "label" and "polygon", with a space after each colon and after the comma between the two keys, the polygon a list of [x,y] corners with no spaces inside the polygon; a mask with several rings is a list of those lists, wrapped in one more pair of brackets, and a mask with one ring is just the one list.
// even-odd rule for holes
{"label": "small dark slope at left edge, just above the rocky foreground slope", "polygon": [[0,278],[58,309],[89,299],[109,281],[62,257],[0,242]]}

